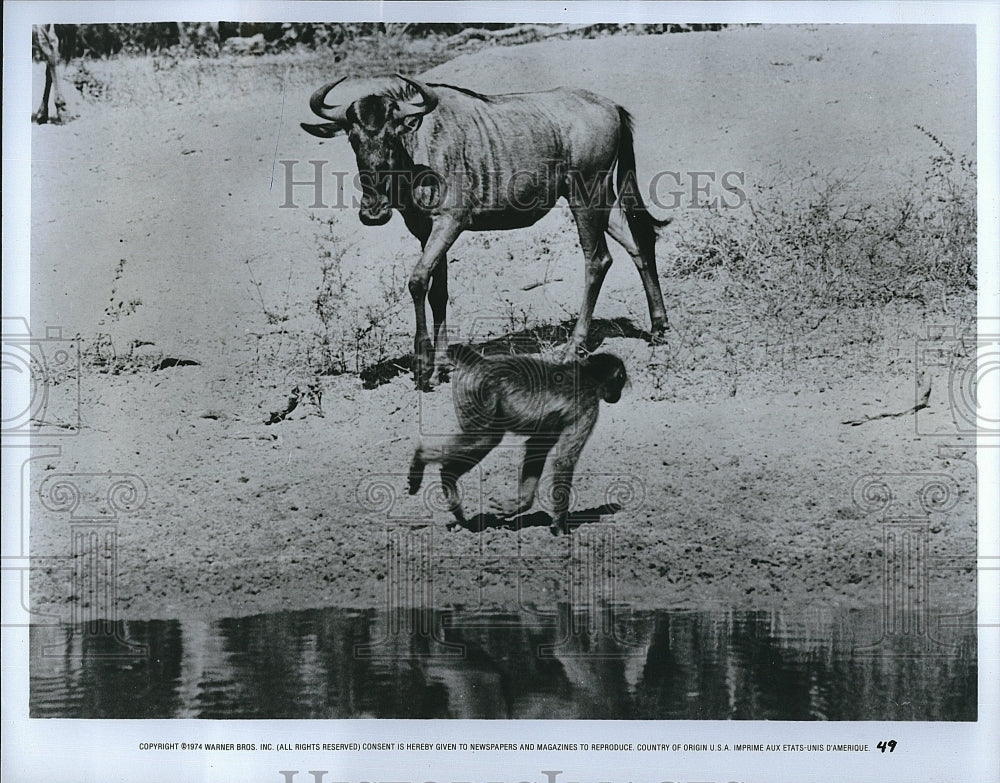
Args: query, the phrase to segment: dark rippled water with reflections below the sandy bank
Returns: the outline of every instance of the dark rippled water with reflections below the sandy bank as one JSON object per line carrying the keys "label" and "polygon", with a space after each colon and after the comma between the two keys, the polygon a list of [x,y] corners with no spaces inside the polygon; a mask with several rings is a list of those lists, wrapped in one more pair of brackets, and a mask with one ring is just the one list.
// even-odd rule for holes
{"label": "dark rippled water with reflections below the sandy bank", "polygon": [[973,625],[880,628],[874,612],[624,607],[33,628],[31,715],[976,719]]}

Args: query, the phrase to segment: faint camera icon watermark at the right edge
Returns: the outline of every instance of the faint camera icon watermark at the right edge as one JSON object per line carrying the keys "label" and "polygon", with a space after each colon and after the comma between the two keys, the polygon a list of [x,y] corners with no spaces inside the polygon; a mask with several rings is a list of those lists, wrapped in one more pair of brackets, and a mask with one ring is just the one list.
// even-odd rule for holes
{"label": "faint camera icon watermark at the right edge", "polygon": [[1000,321],[981,319],[979,327],[931,327],[916,341],[918,435],[1000,436],[1000,411],[988,402],[1000,385]]}

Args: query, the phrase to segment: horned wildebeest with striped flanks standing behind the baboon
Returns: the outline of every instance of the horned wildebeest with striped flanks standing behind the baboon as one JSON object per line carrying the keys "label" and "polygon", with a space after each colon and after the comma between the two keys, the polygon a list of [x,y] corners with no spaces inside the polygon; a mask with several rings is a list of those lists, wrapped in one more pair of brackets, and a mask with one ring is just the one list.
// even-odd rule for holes
{"label": "horned wildebeest with striped flanks standing behind the baboon", "polygon": [[[656,272],[656,221],[635,181],[629,113],[587,90],[480,95],[448,84],[399,81],[346,105],[309,101],[328,122],[302,123],[321,138],[346,133],[357,158],[360,218],[382,225],[396,209],[423,252],[410,275],[416,313],[414,380],[426,388],[434,348],[445,347],[447,252],[463,231],[522,228],[559,198],[569,202],[585,258],[583,305],[570,347],[583,347],[601,283],[611,264],[605,232],[632,256],[646,291],[651,333],[666,329]],[[617,165],[616,165],[617,164]],[[434,317],[427,334],[425,298]]]}

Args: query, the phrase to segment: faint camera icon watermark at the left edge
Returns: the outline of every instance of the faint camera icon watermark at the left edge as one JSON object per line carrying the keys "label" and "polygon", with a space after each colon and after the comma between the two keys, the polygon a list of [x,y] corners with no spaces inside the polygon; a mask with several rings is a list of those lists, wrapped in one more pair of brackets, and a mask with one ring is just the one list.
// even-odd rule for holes
{"label": "faint camera icon watermark at the left edge", "polygon": [[49,326],[32,336],[23,318],[3,319],[4,438],[80,431],[80,347]]}

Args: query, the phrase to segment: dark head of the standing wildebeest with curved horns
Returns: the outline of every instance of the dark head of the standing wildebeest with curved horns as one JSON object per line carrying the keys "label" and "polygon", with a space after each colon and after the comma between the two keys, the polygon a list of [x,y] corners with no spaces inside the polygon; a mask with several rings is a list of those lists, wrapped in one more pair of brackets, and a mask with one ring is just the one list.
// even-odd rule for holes
{"label": "dark head of the standing wildebeest with curved horns", "polygon": [[[309,99],[313,113],[329,122],[303,130],[320,138],[346,133],[358,161],[361,180],[361,209],[358,216],[366,226],[380,226],[392,217],[392,208],[401,206],[399,196],[405,187],[400,175],[412,174],[413,160],[402,138],[420,127],[424,115],[434,111],[438,97],[434,90],[414,79],[396,74],[405,86],[387,87],[358,98],[346,106],[327,104],[326,96],[344,79],[320,87]],[[346,78],[346,77],[345,77]]]}

